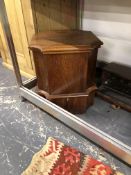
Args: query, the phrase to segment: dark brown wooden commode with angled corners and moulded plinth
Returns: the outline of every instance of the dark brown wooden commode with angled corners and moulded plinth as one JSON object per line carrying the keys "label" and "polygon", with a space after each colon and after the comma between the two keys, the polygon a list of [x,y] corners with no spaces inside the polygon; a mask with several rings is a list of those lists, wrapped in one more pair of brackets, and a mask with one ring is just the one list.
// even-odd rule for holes
{"label": "dark brown wooden commode with angled corners and moulded plinth", "polygon": [[36,34],[30,43],[38,93],[73,113],[93,104],[98,48],[90,31],[63,30]]}

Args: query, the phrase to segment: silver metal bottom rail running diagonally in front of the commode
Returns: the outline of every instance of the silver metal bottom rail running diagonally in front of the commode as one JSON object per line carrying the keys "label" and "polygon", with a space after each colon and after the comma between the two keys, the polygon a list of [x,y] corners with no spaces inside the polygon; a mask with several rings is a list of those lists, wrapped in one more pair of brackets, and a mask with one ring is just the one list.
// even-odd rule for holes
{"label": "silver metal bottom rail running diagonally in front of the commode", "polygon": [[43,109],[73,130],[102,146],[104,149],[110,151],[128,164],[131,164],[131,147],[109,136],[91,124],[83,121],[77,116],[42,98],[25,87],[20,87],[20,93],[22,97],[26,98],[28,101]]}

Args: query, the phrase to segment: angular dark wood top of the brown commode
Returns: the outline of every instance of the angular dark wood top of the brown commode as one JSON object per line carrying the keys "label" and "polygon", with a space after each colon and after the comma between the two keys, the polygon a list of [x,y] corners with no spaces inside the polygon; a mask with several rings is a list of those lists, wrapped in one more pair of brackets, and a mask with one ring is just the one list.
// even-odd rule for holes
{"label": "angular dark wood top of the brown commode", "polygon": [[88,52],[102,45],[91,31],[62,30],[39,33],[33,36],[30,49],[38,49],[44,54]]}

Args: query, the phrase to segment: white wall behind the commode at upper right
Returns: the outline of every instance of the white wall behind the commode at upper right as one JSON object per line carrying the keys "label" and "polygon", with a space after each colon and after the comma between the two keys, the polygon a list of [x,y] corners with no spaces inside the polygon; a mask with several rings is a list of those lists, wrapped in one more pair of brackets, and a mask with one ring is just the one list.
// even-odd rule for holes
{"label": "white wall behind the commode at upper right", "polygon": [[104,45],[98,59],[131,66],[131,0],[85,0],[83,29]]}

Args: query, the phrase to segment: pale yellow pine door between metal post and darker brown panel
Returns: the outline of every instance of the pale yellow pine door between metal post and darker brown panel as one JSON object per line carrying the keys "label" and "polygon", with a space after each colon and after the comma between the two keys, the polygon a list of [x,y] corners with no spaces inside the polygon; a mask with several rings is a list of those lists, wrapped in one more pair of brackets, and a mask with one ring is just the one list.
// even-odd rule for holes
{"label": "pale yellow pine door between metal post and darker brown panel", "polygon": [[20,0],[4,0],[20,69],[34,74]]}

